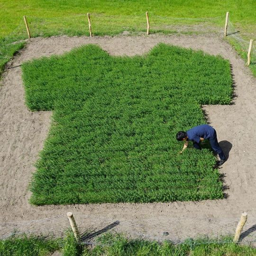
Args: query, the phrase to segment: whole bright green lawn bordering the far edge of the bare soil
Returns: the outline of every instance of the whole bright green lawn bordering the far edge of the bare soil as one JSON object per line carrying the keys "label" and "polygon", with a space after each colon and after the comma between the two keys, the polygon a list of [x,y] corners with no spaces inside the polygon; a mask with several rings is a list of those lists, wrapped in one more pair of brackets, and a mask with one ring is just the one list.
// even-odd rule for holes
{"label": "whole bright green lawn bordering the far edge of the bare soil", "polygon": [[[32,37],[54,35],[89,35],[86,13],[91,13],[94,35],[117,35],[124,30],[133,33],[145,32],[146,16],[149,11],[151,33],[166,34],[206,33],[212,27],[224,27],[226,11],[230,12],[230,26],[239,30],[246,39],[255,39],[256,4],[254,0],[1,0],[0,1],[0,73],[4,64],[24,43],[10,45],[14,41],[27,38],[23,15],[27,15]],[[205,27],[193,31],[190,26]],[[199,26],[199,27],[200,27]],[[187,27],[185,30],[183,27]],[[197,29],[196,29],[197,30]],[[209,31],[208,31],[209,30]],[[247,43],[230,43],[244,58]],[[255,47],[254,47],[255,49]],[[256,75],[256,50],[252,55],[250,68]]]}

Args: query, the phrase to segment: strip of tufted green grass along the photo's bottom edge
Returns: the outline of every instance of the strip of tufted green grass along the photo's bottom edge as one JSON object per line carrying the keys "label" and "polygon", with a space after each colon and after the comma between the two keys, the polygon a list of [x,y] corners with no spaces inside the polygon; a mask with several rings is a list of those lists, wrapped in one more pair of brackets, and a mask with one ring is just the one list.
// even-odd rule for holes
{"label": "strip of tufted green grass along the photo's bottom edge", "polygon": [[58,251],[63,256],[255,256],[256,249],[231,242],[189,239],[173,245],[165,241],[159,244],[142,239],[127,239],[123,235],[104,234],[93,248],[77,244],[72,234],[64,239],[46,237],[12,237],[0,240],[0,256],[48,256]]}

